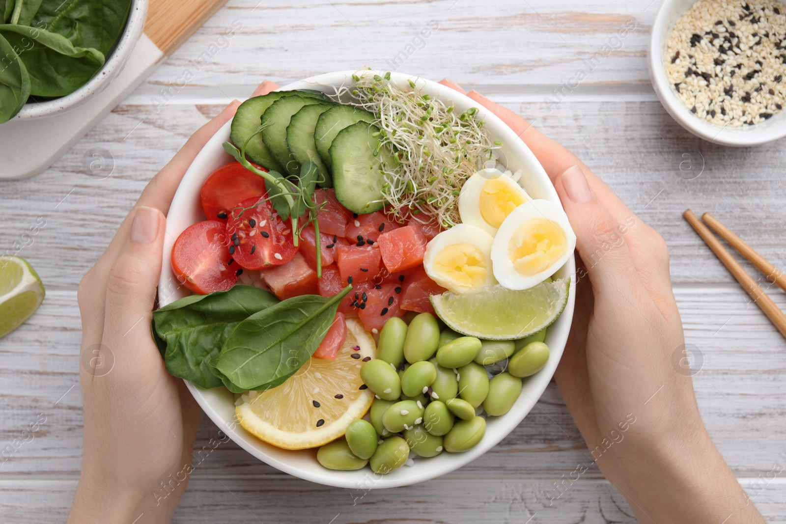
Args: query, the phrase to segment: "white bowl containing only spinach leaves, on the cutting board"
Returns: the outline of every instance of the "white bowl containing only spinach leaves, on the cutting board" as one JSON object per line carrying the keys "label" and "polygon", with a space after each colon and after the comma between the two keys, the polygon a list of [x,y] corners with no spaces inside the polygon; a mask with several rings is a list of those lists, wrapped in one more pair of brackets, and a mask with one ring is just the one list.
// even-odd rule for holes
{"label": "white bowl containing only spinach leaves, on the cutting board", "polygon": [[43,102],[28,100],[27,104],[17,113],[14,119],[39,119],[44,116],[57,115],[69,109],[79,107],[94,94],[101,93],[106,86],[112,82],[117,74],[123,70],[131,51],[141,35],[142,27],[145,26],[145,16],[147,16],[148,0],[134,0],[131,3],[131,10],[128,13],[126,27],[123,35],[120,36],[112,54],[106,57],[104,67],[87,83],[75,90],[73,93],[64,97],[53,98]]}

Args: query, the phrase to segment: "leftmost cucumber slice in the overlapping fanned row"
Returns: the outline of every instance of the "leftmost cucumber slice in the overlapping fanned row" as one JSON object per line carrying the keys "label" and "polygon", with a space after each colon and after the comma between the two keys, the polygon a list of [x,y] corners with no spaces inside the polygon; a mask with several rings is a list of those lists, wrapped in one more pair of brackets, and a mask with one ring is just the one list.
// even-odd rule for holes
{"label": "leftmost cucumber slice in the overlapping fanned row", "polygon": [[[237,108],[234,118],[232,119],[232,126],[230,128],[230,140],[237,148],[242,148],[248,137],[256,133],[259,124],[262,122],[261,117],[270,104],[277,101],[281,97],[310,97],[317,100],[329,100],[323,93],[318,91],[273,91],[272,93],[263,94],[260,97],[252,97],[244,101],[240,107]],[[281,164],[270,154],[267,146],[262,140],[262,134],[256,134],[248,141],[246,146],[246,155],[252,162],[265,167],[268,170],[281,171]]]}

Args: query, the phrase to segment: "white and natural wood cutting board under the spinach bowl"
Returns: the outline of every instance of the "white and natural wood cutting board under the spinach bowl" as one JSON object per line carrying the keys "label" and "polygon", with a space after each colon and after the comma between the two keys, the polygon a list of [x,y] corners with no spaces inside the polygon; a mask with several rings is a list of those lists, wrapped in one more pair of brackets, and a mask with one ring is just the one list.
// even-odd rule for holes
{"label": "white and natural wood cutting board under the spinach bowl", "polygon": [[225,3],[149,0],[145,30],[105,90],[68,112],[0,125],[0,178],[31,177],[50,167]]}

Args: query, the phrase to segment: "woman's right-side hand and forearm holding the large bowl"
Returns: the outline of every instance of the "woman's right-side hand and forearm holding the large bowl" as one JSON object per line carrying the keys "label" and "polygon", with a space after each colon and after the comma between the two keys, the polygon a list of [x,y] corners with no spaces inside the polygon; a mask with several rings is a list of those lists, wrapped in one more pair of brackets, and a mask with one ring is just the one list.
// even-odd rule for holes
{"label": "woman's right-side hand and forearm holding the large bowl", "polygon": [[566,148],[466,94],[538,157],[576,233],[575,314],[555,379],[592,460],[640,522],[764,522],[712,444],[690,374],[674,365],[685,339],[663,238]]}

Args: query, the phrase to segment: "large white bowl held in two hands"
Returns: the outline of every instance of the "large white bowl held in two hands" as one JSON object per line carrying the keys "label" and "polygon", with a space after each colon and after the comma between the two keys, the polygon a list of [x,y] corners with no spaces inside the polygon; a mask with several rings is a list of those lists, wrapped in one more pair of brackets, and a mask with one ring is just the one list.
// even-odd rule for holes
{"label": "large white bowl held in two hands", "polygon": [[[353,72],[342,71],[314,76],[302,82],[292,83],[282,89],[312,89],[328,92],[329,89],[326,86],[339,86],[344,83],[351,83]],[[428,93],[432,97],[438,97],[443,101],[452,100],[459,112],[464,112],[468,108],[477,106],[476,102],[470,98],[439,83],[400,73],[391,75],[391,81],[396,82],[400,86],[406,85],[407,79],[410,78],[417,82],[417,86],[424,93]],[[538,163],[538,159],[524,145],[523,141],[520,141],[516,134],[495,115],[487,112],[482,107],[479,113],[479,118],[486,120],[492,137],[495,140],[501,140],[504,144],[503,150],[505,151],[507,167],[512,171],[523,169],[524,174],[521,178],[521,183],[527,189],[527,192],[534,198],[542,198],[559,203],[560,200],[556,196],[556,191],[551,181],[549,181],[545,171]],[[189,170],[185,172],[180,187],[178,187],[178,191],[174,195],[169,216],[167,217],[167,234],[164,236],[163,269],[159,284],[161,306],[190,294],[190,291],[187,289],[178,288],[176,280],[174,280],[174,274],[171,271],[172,245],[183,229],[205,219],[200,205],[200,189],[213,170],[232,160],[222,148],[222,142],[229,139],[230,123],[226,123],[208,141],[208,144],[205,145],[199,155],[196,156]],[[522,394],[516,401],[516,404],[504,416],[490,417],[487,420],[487,431],[483,440],[475,448],[465,453],[442,453],[429,459],[416,459],[414,466],[401,467],[388,475],[375,475],[369,468],[363,468],[358,471],[330,471],[318,464],[316,449],[301,451],[279,449],[260,441],[245,431],[239,424],[236,424],[234,422],[235,406],[233,395],[228,390],[223,387],[203,390],[191,383],[187,384],[196,401],[204,409],[204,412],[222,431],[229,434],[230,438],[237,442],[238,445],[241,445],[248,453],[281,471],[312,482],[342,488],[392,488],[423,482],[454,471],[493,448],[494,445],[519,425],[524,416],[527,416],[527,413],[530,412],[535,402],[540,398],[554,374],[557,363],[560,361],[565,342],[567,341],[567,332],[571,328],[575,302],[573,289],[575,285],[575,262],[573,257],[556,273],[556,277],[571,277],[571,293],[564,312],[552,324],[547,332],[548,335],[546,335],[545,342],[551,350],[548,363],[542,371],[523,380]]]}

